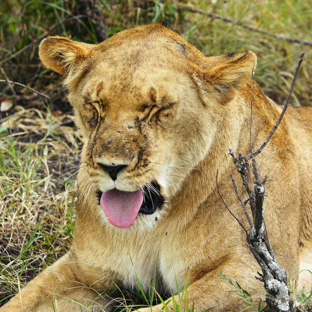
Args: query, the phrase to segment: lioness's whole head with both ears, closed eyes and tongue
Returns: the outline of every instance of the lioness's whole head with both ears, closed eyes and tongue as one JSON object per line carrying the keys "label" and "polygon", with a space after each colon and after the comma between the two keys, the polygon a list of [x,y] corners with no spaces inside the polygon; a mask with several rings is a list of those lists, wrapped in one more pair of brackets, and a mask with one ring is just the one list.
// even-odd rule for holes
{"label": "lioness's whole head with both ears, closed eyes and tongue", "polygon": [[[219,58],[232,59],[236,72],[251,71],[250,54]],[[170,198],[209,151],[241,85],[236,80],[244,80],[241,70],[227,83],[217,58],[204,57],[160,25],[95,46],[52,37],[41,43],[40,58],[66,77],[85,138],[79,193],[120,228],[151,228],[170,208]],[[248,60],[247,69],[237,66],[240,59]]]}

